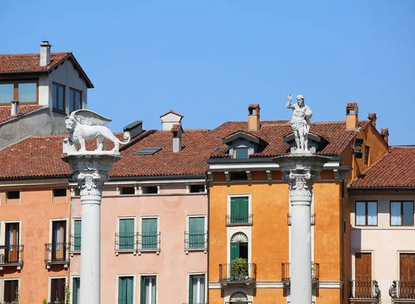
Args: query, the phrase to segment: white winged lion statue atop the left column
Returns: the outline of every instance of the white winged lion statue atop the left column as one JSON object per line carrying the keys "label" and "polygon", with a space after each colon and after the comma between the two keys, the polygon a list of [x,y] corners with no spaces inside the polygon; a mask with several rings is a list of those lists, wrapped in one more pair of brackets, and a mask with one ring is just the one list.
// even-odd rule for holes
{"label": "white winged lion statue atop the left column", "polygon": [[[124,133],[125,142],[121,142],[118,138],[104,124],[111,122],[108,118],[89,111],[77,110],[73,111],[71,115],[66,116],[65,126],[69,132],[68,140],[64,140],[67,148],[64,149],[66,153],[71,152],[85,152],[85,141],[97,139],[97,149],[95,151],[104,151],[105,139],[111,140],[114,143],[113,152],[118,152],[120,144],[128,144],[130,141],[129,133]],[[80,144],[81,149],[78,151],[77,146]]]}

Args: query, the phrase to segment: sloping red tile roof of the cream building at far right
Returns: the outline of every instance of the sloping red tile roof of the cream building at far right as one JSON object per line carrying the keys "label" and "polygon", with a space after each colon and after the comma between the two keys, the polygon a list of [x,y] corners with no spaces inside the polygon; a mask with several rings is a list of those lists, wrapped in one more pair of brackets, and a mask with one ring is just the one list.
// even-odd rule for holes
{"label": "sloping red tile roof of the cream building at far right", "polygon": [[415,146],[391,146],[349,188],[415,188]]}

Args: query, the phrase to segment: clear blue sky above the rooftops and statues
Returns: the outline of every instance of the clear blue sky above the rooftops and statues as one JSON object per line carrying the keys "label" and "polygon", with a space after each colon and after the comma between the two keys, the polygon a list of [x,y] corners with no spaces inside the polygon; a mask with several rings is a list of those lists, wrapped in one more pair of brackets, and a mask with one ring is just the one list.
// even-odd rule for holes
{"label": "clear blue sky above the rooftops and statues", "polygon": [[[295,3],[293,3],[295,2]],[[313,119],[377,113],[390,144],[415,144],[415,1],[13,1],[0,6],[0,53],[72,51],[95,88],[89,108],[160,129],[289,120],[289,93]]]}

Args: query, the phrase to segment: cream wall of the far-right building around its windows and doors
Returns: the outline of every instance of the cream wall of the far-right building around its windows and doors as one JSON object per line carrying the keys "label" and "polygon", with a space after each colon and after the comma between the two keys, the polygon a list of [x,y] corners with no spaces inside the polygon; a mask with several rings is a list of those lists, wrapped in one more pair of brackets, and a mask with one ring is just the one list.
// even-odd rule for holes
{"label": "cream wall of the far-right building around its windows and doors", "polygon": [[[356,227],[355,202],[378,202],[378,226]],[[355,278],[355,253],[371,252],[372,280],[379,283],[382,303],[391,303],[389,287],[399,280],[399,254],[415,253],[415,227],[390,226],[389,202],[414,201],[413,196],[351,196],[351,273]]]}

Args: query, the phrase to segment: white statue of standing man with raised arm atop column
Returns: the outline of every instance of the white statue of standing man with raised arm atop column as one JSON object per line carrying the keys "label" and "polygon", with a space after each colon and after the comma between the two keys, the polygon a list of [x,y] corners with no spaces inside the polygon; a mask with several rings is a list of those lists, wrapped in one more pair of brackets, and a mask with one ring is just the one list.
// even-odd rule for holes
{"label": "white statue of standing man with raised arm atop column", "polygon": [[310,131],[310,118],[313,115],[311,108],[304,104],[304,96],[297,96],[297,104],[291,104],[291,94],[288,95],[286,108],[293,109],[293,118],[291,118],[291,128],[293,128],[297,152],[308,151],[308,131]]}

